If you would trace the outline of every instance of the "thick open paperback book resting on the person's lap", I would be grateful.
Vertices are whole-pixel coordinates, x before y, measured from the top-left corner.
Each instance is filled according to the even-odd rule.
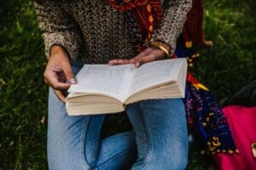
[[[84,65],[67,95],[68,115],[125,111],[144,99],[183,98],[186,59],[165,59],[134,65]]]

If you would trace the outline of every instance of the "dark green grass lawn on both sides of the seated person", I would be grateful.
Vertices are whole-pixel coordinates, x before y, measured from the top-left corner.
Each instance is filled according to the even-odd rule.
[[[192,70],[219,102],[255,80],[256,5],[254,0],[204,3],[206,37],[214,45],[200,49]],[[32,1],[1,1],[0,170],[47,169],[46,62]],[[211,159],[191,148],[188,169],[206,169]]]

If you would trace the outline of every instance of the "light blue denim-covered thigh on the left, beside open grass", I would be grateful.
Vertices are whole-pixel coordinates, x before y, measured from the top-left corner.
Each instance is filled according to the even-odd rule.
[[[76,74],[82,64],[73,63]],[[68,116],[65,104],[49,88],[47,152],[49,169],[80,170],[96,164],[104,116]]]

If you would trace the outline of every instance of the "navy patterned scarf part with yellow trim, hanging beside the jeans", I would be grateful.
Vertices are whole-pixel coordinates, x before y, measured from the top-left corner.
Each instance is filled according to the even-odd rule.
[[[172,55],[172,58],[177,57],[187,58],[190,66],[193,59],[198,57],[193,48],[186,48],[183,35],[178,38],[175,54]],[[184,105],[190,133],[193,134],[201,154],[238,151],[223,111],[209,90],[189,72]]]

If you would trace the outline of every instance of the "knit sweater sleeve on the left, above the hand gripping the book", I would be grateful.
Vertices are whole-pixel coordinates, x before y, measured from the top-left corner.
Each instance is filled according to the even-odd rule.
[[[43,31],[46,56],[49,57],[53,45],[60,45],[67,50],[71,59],[75,59],[79,55],[81,37],[78,26],[61,1],[38,0],[34,2],[34,7]]]

